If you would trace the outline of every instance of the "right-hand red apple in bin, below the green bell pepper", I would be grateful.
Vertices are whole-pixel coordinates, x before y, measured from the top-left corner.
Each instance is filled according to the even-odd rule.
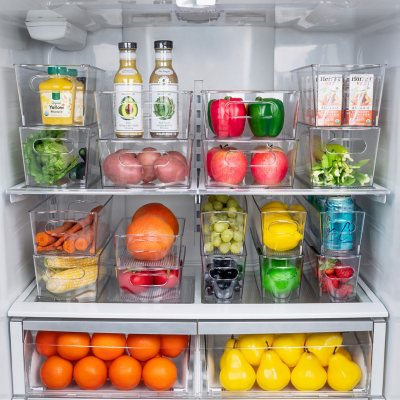
[[[289,161],[279,147],[257,147],[251,157],[251,174],[258,185],[277,185],[285,179]]]

